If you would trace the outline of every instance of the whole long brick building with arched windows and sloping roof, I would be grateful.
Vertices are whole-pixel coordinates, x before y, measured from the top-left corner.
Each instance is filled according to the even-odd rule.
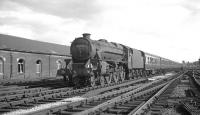
[[[55,77],[69,46],[0,34],[0,80]]]

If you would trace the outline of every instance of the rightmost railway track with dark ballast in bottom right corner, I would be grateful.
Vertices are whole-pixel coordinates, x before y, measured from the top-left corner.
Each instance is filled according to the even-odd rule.
[[[190,74],[190,72],[188,73]],[[154,102],[149,104],[144,113],[147,115],[178,114],[174,110],[179,109],[182,114],[199,115],[200,93],[197,91],[193,77],[192,75],[185,76],[185,78],[171,83],[163,93],[154,99]],[[176,90],[177,88],[179,88],[179,91]]]

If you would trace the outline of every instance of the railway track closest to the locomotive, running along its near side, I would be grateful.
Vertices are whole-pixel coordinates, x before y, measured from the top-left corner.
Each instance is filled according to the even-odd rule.
[[[2,96],[0,97],[0,113],[10,112],[18,109],[27,109],[36,105],[56,102],[65,98],[70,98],[74,96],[80,96],[87,93],[92,93],[97,95],[110,90],[116,90],[119,87],[128,87],[132,84],[139,84],[141,82],[146,82],[147,78],[142,78],[132,81],[124,81],[123,83],[113,83],[103,86],[87,87],[83,89],[73,90],[72,88],[59,88],[59,89],[49,89],[40,90],[34,88],[32,90],[37,91],[26,91],[14,95]],[[29,89],[31,90],[31,89]]]

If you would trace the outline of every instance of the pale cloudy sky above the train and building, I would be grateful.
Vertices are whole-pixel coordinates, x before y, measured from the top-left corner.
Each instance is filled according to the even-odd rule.
[[[0,0],[0,33],[70,45],[85,32],[174,61],[196,61],[200,0]]]

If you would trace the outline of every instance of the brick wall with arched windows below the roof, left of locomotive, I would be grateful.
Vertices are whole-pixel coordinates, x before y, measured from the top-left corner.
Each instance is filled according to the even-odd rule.
[[[13,52],[0,50],[0,58],[4,60],[3,75],[0,74],[0,79],[37,79],[45,77],[56,77],[58,69],[58,60],[61,66],[65,67],[64,59],[66,56],[36,54],[26,52]],[[69,58],[69,57],[68,57]],[[23,59],[25,62],[24,73],[18,72],[18,61]],[[41,61],[41,73],[37,73],[36,62]],[[61,67],[59,66],[59,67]]]

